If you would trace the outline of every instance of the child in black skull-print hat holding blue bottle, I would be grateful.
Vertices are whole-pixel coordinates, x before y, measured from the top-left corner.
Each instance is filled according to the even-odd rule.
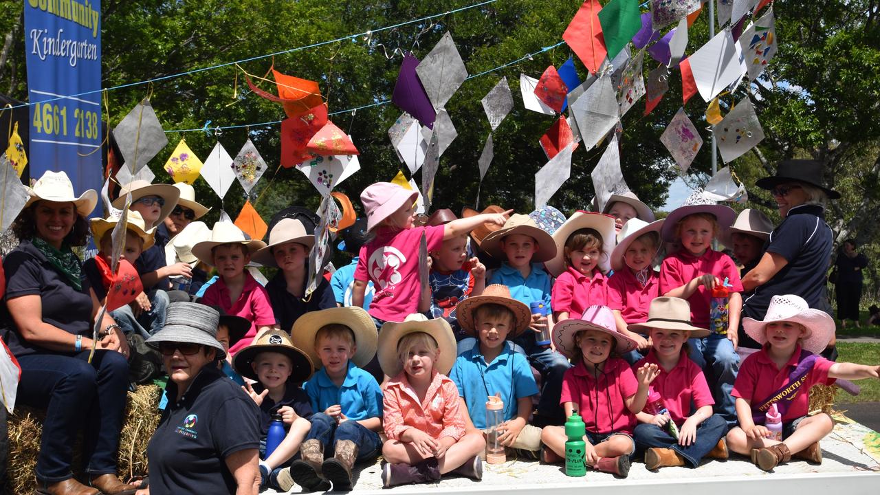
[[[242,389],[260,408],[260,489],[289,491],[293,480],[290,470],[283,468],[297,454],[311,427],[312,404],[298,384],[312,376],[312,359],[290,343],[287,332],[269,330],[238,351],[232,366],[242,376],[256,380],[253,386],[248,383]],[[281,415],[287,434],[278,447],[266,455],[269,425],[275,414]]]

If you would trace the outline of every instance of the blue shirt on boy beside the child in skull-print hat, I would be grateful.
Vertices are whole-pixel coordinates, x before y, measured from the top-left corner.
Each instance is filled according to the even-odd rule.
[[[370,417],[382,417],[382,389],[373,375],[348,361],[348,372],[341,387],[336,387],[322,367],[304,383],[305,393],[312,401],[312,410],[324,412],[339,404],[348,419],[360,421]]]

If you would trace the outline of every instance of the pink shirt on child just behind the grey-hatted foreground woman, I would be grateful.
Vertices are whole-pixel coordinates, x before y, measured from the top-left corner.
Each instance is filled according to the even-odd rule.
[[[222,307],[226,314],[241,316],[251,322],[251,329],[235,345],[229,348],[229,353],[234,355],[242,348],[251,344],[253,337],[257,336],[257,327],[275,325],[275,313],[272,312],[272,304],[269,303],[269,294],[266,288],[260,285],[253,276],[245,272],[245,288],[242,289],[238,300],[232,303],[229,297],[229,288],[226,287],[223,277],[217,279],[214,284],[205,291],[202,296],[202,304]]]

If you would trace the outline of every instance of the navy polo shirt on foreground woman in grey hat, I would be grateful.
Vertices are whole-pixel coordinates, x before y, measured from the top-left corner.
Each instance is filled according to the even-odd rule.
[[[216,366],[206,365],[175,402],[177,385],[168,382],[168,405],[147,447],[150,495],[235,493],[225,458],[260,448],[260,410]]]

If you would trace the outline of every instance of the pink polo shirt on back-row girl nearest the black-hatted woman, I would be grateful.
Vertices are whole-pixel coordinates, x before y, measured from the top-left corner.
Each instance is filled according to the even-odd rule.
[[[696,277],[711,274],[724,281],[728,278],[730,292],[743,292],[743,284],[739,280],[739,269],[730,256],[707,249],[701,256],[692,255],[687,249],[679,249],[669,255],[660,267],[660,295],[670,292],[676,287],[687,284]],[[709,328],[709,302],[712,292],[700,285],[687,298],[691,304],[691,322],[694,327]]]

